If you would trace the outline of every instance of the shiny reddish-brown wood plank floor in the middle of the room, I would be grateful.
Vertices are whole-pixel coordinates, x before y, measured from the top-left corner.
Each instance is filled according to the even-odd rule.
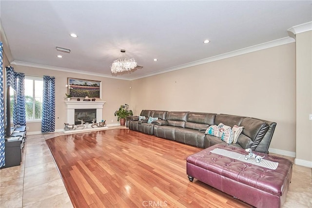
[[[76,208],[251,207],[198,180],[186,157],[200,148],[129,129],[46,140]]]

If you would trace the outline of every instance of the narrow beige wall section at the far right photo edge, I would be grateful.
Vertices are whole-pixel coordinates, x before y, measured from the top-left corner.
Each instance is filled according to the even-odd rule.
[[[296,34],[296,160],[312,167],[312,31]]]

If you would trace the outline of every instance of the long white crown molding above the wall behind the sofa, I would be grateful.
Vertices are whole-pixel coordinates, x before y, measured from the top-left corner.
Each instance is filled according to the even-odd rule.
[[[148,77],[148,76],[159,75],[159,74],[172,72],[172,71],[176,71],[176,70],[179,70],[179,69],[184,69],[184,68],[188,68],[188,67],[192,67],[192,66],[196,66],[196,65],[200,65],[200,64],[204,64],[204,63],[209,63],[209,62],[213,62],[213,61],[217,61],[217,60],[221,60],[221,59],[225,59],[225,58],[230,58],[230,57],[235,57],[235,56],[239,56],[239,55],[243,55],[243,54],[248,54],[248,53],[252,53],[252,52],[255,52],[255,51],[260,51],[260,50],[263,50],[263,49],[272,48],[272,47],[275,47],[275,46],[292,43],[294,41],[295,40],[293,38],[290,38],[290,37],[280,38],[280,39],[277,39],[277,40],[273,40],[273,41],[261,43],[261,44],[258,44],[258,45],[250,46],[250,47],[247,47],[247,48],[238,49],[236,51],[228,52],[228,53],[225,53],[225,54],[217,55],[217,56],[214,56],[214,57],[204,58],[204,59],[197,60],[197,61],[194,61],[194,62],[190,62],[190,63],[182,64],[182,65],[179,65],[179,66],[167,68],[167,69],[164,69],[164,70],[161,70],[161,71],[158,71],[158,72],[155,72],[155,73],[147,74],[147,75],[144,75],[144,76],[137,76],[137,77],[132,78],[131,80],[140,79],[140,78],[144,78],[144,77]]]

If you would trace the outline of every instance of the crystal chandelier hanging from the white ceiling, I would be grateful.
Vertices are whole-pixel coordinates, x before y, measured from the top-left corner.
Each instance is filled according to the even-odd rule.
[[[120,52],[124,54],[126,50],[121,49]],[[117,58],[110,65],[111,72],[117,74],[118,72],[131,71],[137,67],[137,61],[134,58]]]

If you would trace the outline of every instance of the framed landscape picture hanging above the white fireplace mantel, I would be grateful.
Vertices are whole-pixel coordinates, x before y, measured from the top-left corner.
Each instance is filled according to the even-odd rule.
[[[72,98],[101,99],[101,81],[68,78],[68,94]]]

